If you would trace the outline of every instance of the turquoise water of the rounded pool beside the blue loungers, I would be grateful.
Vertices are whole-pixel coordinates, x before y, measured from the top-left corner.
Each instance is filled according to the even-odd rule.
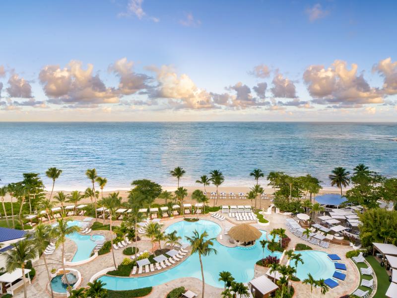
[[[297,277],[300,280],[307,278],[310,273],[315,279],[331,278],[335,272],[335,265],[327,257],[327,253],[317,250],[299,251],[302,254],[303,264],[298,263]],[[295,262],[291,262],[291,267],[295,267]]]

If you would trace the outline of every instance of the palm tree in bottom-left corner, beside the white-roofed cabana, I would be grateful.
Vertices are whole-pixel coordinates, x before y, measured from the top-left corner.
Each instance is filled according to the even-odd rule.
[[[5,269],[12,272],[17,268],[22,269],[23,292],[27,298],[26,282],[25,282],[25,262],[33,260],[37,256],[37,248],[31,240],[23,239],[10,244],[12,249],[3,253],[5,259]]]

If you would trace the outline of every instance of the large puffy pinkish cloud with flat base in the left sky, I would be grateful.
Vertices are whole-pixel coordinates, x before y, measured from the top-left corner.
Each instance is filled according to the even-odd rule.
[[[106,87],[99,75],[93,75],[92,64],[82,69],[79,61],[70,61],[61,69],[58,65],[45,66],[39,74],[49,102],[55,104],[78,103],[100,104],[118,103],[118,93],[114,88]]]

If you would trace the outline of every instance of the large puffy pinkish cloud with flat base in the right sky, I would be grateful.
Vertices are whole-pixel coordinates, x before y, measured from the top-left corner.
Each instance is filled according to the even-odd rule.
[[[309,94],[318,104],[355,105],[383,103],[382,94],[370,87],[363,74],[357,75],[357,64],[347,69],[347,64],[335,60],[328,69],[322,65],[312,65],[303,74]]]

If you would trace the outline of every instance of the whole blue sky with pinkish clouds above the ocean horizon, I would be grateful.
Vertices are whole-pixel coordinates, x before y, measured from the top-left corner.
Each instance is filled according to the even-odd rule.
[[[0,2],[0,121],[397,120],[396,1]]]

